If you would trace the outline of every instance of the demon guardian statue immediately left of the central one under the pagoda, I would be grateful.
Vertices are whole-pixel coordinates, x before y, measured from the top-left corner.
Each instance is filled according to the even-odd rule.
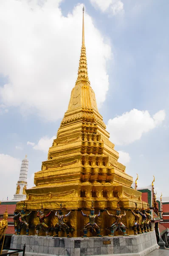
[[[62,204],[60,204],[60,209],[58,211],[56,211],[56,213],[55,213],[55,216],[58,218],[58,222],[56,223],[56,225],[54,227],[54,230],[56,233],[55,237],[58,237],[59,231],[61,231],[61,229],[66,232],[67,237],[70,237],[69,236],[70,227],[63,220],[63,218],[68,217],[70,215],[70,213],[71,213],[71,211],[68,212],[68,214],[63,214]]]

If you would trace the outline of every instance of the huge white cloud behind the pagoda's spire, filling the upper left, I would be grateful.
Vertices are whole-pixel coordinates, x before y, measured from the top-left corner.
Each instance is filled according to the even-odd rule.
[[[0,1],[0,87],[3,104],[20,107],[43,120],[62,118],[75,85],[82,41],[82,4],[64,17],[59,0]],[[91,40],[92,38],[92,40]],[[8,43],[6,43],[8,42]],[[85,12],[88,73],[98,105],[109,81],[106,64],[111,47]]]

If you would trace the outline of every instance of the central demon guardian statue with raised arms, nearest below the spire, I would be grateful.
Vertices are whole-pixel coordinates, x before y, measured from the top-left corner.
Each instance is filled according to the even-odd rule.
[[[82,212],[82,210],[81,210],[81,212]],[[82,212],[82,215],[84,217],[89,218],[89,222],[83,228],[84,236],[82,236],[82,237],[87,237],[87,232],[90,230],[90,228],[92,229],[92,232],[96,231],[97,236],[100,237],[101,236],[100,235],[100,228],[95,222],[95,218],[100,216],[100,210],[99,210],[99,214],[94,214],[93,201],[92,201],[92,208],[90,210],[90,214],[85,214],[85,213]]]

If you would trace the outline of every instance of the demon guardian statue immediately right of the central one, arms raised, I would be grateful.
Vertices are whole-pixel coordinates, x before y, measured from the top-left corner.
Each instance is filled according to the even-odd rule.
[[[114,236],[114,232],[116,230],[121,230],[123,232],[123,236],[128,236],[128,234],[126,234],[127,227],[121,222],[121,218],[126,215],[126,212],[124,211],[124,214],[120,214],[121,210],[119,207],[119,202],[117,204],[116,214],[110,214],[107,210],[106,212],[109,216],[115,217],[115,222],[111,225],[111,227],[107,227],[107,230],[110,230],[111,232],[109,236]]]

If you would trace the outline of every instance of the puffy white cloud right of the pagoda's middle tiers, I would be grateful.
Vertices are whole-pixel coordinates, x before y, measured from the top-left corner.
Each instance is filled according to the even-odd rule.
[[[109,119],[107,131],[115,145],[126,145],[139,140],[141,136],[160,125],[165,119],[165,111],[161,110],[152,117],[148,111],[132,109],[121,116]]]

